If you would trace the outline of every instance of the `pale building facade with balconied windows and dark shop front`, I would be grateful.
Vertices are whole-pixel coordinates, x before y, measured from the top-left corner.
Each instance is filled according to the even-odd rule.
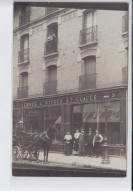
[[[125,155],[128,12],[15,7],[13,130],[58,128],[52,148],[63,151],[67,131],[105,133],[108,96],[110,154]]]

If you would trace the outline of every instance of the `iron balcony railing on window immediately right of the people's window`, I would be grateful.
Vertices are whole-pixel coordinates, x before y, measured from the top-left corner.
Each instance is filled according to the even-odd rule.
[[[97,26],[80,31],[80,44],[86,44],[97,40]]]

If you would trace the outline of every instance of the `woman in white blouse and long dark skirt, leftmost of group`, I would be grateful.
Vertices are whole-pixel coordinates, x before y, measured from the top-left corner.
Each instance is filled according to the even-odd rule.
[[[65,155],[71,155],[72,154],[72,136],[70,132],[67,132],[67,134],[64,137],[65,140]]]

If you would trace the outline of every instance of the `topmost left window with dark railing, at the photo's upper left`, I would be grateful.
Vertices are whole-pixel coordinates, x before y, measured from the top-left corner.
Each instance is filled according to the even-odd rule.
[[[22,6],[19,16],[19,25],[22,26],[30,22],[30,7]]]

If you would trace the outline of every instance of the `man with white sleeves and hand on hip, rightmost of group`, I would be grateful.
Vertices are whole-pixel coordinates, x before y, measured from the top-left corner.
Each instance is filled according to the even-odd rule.
[[[96,157],[99,157],[100,155],[102,141],[103,141],[103,136],[99,133],[99,130],[96,130],[93,138],[93,146],[95,149]]]

